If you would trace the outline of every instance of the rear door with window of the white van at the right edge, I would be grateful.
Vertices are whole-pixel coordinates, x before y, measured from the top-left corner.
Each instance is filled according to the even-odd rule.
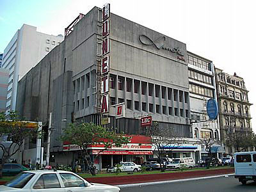
[[[253,175],[252,154],[236,155],[236,175]]]

